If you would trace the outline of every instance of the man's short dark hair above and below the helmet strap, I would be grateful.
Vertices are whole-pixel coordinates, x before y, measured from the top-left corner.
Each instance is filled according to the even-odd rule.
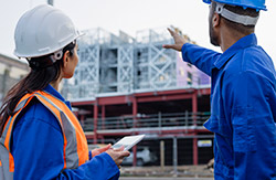
[[[225,7],[225,9],[230,10],[231,12],[234,12],[234,13],[241,14],[241,15],[248,15],[248,17],[255,18],[255,17],[258,17],[258,14],[259,14],[259,11],[256,11],[255,9],[252,9],[252,8],[244,9],[243,7],[233,7],[233,6],[227,6],[227,4],[225,4],[224,7]],[[232,30],[235,30],[240,33],[251,34],[255,30],[255,25],[244,25],[241,23],[230,21],[223,17],[222,17],[222,19],[224,20],[226,27],[229,27]]]

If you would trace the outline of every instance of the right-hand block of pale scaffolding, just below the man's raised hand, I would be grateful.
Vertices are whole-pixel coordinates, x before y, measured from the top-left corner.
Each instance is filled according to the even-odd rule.
[[[162,91],[177,86],[178,53],[162,44],[172,43],[166,29],[137,32],[135,46],[135,89]]]

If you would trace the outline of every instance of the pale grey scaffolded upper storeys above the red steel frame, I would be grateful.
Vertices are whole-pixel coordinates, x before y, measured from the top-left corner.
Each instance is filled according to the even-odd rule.
[[[70,100],[187,88],[206,82],[194,66],[182,61],[179,52],[162,47],[173,43],[166,28],[138,31],[136,39],[100,28],[84,33],[78,40],[75,75],[62,88]]]

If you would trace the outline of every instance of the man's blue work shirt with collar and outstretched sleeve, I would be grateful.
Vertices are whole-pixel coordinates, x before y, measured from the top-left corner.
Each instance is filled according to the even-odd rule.
[[[182,57],[212,80],[215,179],[276,179],[276,73],[255,34],[224,53],[187,43]]]

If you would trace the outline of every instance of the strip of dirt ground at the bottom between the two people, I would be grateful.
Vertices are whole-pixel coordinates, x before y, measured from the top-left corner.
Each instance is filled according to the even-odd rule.
[[[202,166],[179,166],[176,171],[173,167],[121,167],[121,177],[193,177],[213,178],[213,172]]]

